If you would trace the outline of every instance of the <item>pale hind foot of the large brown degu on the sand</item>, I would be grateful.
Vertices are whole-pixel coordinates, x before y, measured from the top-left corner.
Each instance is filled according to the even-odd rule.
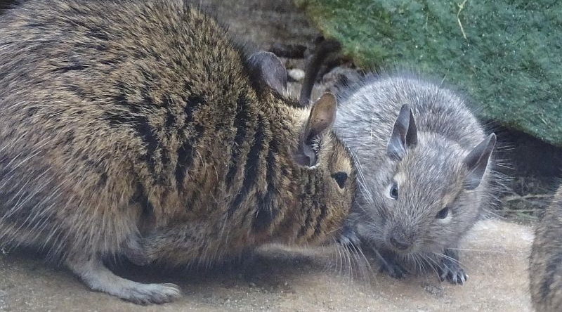
[[[74,256],[67,266],[92,290],[106,292],[136,304],[163,304],[181,295],[174,284],[143,284],[120,278],[112,273],[98,256]]]

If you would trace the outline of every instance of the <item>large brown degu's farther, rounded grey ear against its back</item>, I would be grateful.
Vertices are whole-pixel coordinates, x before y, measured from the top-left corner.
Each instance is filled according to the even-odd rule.
[[[248,58],[250,74],[261,87],[268,86],[281,95],[287,94],[287,70],[275,54],[258,51]]]

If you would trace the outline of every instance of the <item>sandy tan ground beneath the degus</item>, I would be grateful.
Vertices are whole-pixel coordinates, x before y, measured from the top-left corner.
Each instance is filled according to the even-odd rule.
[[[119,266],[119,275],[133,280],[180,285],[183,297],[162,306],[136,306],[92,292],[64,268],[9,253],[0,256],[0,311],[532,311],[531,242],[528,226],[478,223],[462,246],[469,273],[463,286],[440,283],[432,273],[405,280],[377,273],[364,282],[327,266],[325,257],[272,249],[244,270],[162,273]]]

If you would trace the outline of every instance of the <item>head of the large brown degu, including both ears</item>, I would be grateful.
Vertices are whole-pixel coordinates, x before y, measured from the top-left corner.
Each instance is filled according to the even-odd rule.
[[[325,93],[301,108],[287,98],[287,72],[273,53],[254,53],[249,67],[261,99],[283,102],[278,108],[292,116],[289,127],[294,141],[288,152],[294,181],[285,181],[279,190],[290,208],[285,210],[285,220],[269,230],[297,245],[328,242],[339,234],[355,197],[353,160],[332,131],[336,98]]]

